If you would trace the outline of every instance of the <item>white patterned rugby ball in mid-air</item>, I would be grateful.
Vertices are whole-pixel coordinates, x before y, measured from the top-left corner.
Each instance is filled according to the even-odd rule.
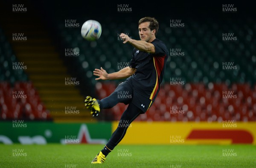
[[[88,41],[98,40],[101,32],[101,24],[96,20],[87,20],[81,28],[82,37]]]

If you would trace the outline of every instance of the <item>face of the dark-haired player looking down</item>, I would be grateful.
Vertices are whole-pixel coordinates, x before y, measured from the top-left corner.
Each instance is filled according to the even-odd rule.
[[[153,31],[150,30],[149,26],[150,22],[144,22],[140,23],[139,25],[139,34],[140,34],[140,40],[148,42],[151,40]]]

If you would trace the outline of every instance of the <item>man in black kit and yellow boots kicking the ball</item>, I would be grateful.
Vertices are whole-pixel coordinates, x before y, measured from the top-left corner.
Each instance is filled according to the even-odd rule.
[[[144,17],[140,19],[140,40],[133,40],[126,34],[120,34],[123,43],[130,43],[134,46],[129,67],[111,74],[108,74],[102,67],[93,71],[93,74],[98,77],[96,80],[127,79],[119,84],[110,96],[102,100],[87,96],[84,105],[90,109],[91,114],[98,116],[101,109],[112,108],[117,103],[128,104],[128,107],[123,112],[119,125],[108,143],[96,155],[92,163],[105,162],[108,154],[125,136],[131,122],[140,114],[144,114],[157,97],[169,54],[166,45],[156,38],[158,28],[159,25],[155,18]],[[119,91],[130,93],[131,99],[118,98]]]

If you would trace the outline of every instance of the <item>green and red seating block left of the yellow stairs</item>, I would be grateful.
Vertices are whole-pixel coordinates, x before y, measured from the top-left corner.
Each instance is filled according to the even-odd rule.
[[[26,72],[13,69],[19,61],[1,28],[0,62],[0,120],[52,120]]]

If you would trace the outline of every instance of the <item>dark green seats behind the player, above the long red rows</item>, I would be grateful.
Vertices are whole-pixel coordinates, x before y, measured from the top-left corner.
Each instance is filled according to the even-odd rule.
[[[77,20],[86,20],[78,18]],[[106,17],[105,20],[111,20]],[[127,18],[126,20],[131,20]],[[95,42],[83,40],[80,30],[76,28],[67,29],[64,22],[58,23],[58,34],[64,39],[63,45],[72,48],[79,48],[81,57],[77,57],[76,63],[81,67],[79,71],[93,71],[94,68],[104,67],[106,71],[118,71],[118,63],[127,63],[131,60],[132,47],[123,45],[118,39],[120,33],[116,24],[102,23],[102,36]],[[169,77],[183,77],[186,83],[255,83],[253,76],[253,65],[256,64],[255,46],[251,45],[251,33],[244,39],[242,34],[251,32],[251,28],[245,26],[242,29],[234,29],[239,40],[232,43],[222,41],[222,32],[226,28],[220,28],[216,23],[206,21],[203,25],[188,20],[185,28],[170,28],[167,20],[159,18],[161,23],[157,37],[166,43],[168,50],[180,48],[184,52],[184,57],[170,57],[166,67],[164,82],[169,82]],[[238,23],[233,23],[237,26]],[[248,23],[250,24],[250,23]],[[232,26],[231,26],[232,27]],[[134,39],[138,39],[136,24],[128,25],[127,28],[120,24],[119,29],[124,29]],[[217,33],[212,33],[217,31]],[[168,39],[169,37],[169,39]],[[105,43],[106,42],[106,43]],[[241,58],[241,54],[244,55]],[[253,60],[253,61],[252,61]],[[223,62],[231,62],[237,66],[238,71],[225,71],[222,69]],[[87,76],[92,84],[96,81],[92,73]],[[226,80],[226,81],[225,81]],[[120,81],[117,81],[117,83]]]

